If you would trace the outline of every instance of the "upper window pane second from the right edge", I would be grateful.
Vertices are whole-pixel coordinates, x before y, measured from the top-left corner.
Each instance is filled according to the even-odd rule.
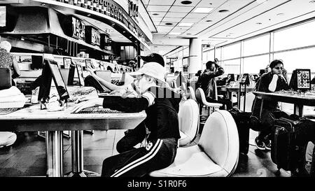
[[[244,41],[244,57],[269,52],[269,34]]]

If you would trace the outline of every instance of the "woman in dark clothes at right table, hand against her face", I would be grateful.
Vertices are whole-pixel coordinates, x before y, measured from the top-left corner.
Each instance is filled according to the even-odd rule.
[[[288,82],[283,76],[283,62],[276,59],[269,64],[269,67],[271,71],[260,76],[257,91],[276,92],[279,90],[288,90]],[[261,104],[262,100],[255,97],[253,101],[252,115],[260,118],[260,126],[262,127],[260,134],[255,138],[255,145],[260,150],[271,150],[272,119],[270,117],[270,113],[279,111],[278,101],[264,100],[260,114]]]

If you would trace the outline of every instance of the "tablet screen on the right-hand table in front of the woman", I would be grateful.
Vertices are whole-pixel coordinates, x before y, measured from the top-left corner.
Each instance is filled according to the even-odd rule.
[[[311,70],[295,69],[292,73],[289,86],[293,90],[311,90]]]

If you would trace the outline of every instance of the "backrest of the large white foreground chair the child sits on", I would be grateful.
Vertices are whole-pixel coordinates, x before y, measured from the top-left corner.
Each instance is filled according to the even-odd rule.
[[[235,171],[239,160],[239,134],[228,111],[215,111],[209,116],[198,146],[229,174]]]

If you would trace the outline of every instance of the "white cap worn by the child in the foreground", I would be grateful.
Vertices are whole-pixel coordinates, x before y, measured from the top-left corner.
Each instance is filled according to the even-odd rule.
[[[161,66],[161,64],[159,64],[158,62],[147,62],[138,71],[134,71],[129,74],[130,76],[139,76],[142,74],[146,74],[147,76],[151,76],[161,83],[166,83],[165,73],[165,67]]]

